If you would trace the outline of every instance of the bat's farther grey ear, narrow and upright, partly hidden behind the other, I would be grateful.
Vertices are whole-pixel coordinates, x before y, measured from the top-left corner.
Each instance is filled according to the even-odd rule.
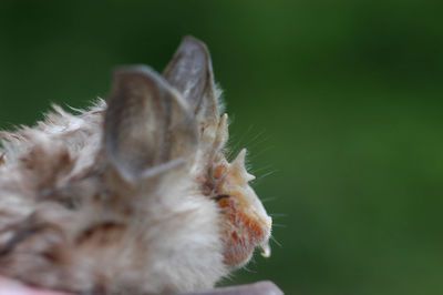
[[[209,51],[202,41],[185,37],[163,77],[187,101],[198,123],[217,125],[219,108],[213,65]]]

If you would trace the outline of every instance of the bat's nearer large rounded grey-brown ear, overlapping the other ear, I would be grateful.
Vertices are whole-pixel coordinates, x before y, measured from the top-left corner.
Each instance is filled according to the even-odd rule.
[[[126,181],[156,175],[189,161],[197,123],[179,93],[147,67],[114,72],[104,120],[104,150]]]

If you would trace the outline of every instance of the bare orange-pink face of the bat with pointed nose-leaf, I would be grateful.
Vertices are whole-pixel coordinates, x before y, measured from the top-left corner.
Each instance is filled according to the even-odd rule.
[[[246,150],[228,163],[225,157],[214,163],[204,179],[203,189],[222,210],[225,263],[230,267],[241,266],[260,246],[268,257],[268,240],[272,220],[266,213],[248,182],[255,177],[245,169]]]

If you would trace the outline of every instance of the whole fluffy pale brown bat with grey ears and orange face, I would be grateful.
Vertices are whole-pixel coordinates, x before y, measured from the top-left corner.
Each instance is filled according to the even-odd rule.
[[[209,289],[269,254],[271,220],[228,163],[209,53],[114,73],[107,104],[1,134],[0,273],[80,294]]]

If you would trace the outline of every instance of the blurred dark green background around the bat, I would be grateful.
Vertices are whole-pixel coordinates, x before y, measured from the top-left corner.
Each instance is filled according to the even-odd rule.
[[[443,294],[443,18],[430,3],[2,1],[0,126],[106,98],[112,69],[212,51],[276,226],[223,284]],[[357,2],[357,1],[356,1]]]

